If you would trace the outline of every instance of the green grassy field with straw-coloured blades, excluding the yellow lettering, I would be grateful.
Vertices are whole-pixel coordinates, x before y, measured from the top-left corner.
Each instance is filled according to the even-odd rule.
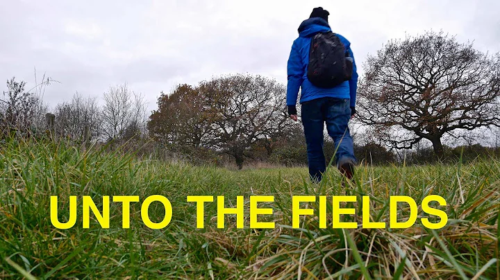
[[[500,161],[456,166],[360,167],[356,181],[342,188],[337,170],[322,184],[307,180],[306,168],[241,171],[140,160],[133,155],[64,143],[10,139],[0,144],[0,279],[499,279]],[[292,195],[370,195],[372,220],[389,218],[390,195],[408,195],[420,205],[441,195],[448,223],[408,229],[326,229],[304,216],[292,229]],[[110,204],[110,229],[92,218],[83,229],[81,200],[71,229],[51,225],[50,195],[58,195],[59,219],[69,217],[69,195],[91,195],[101,209],[103,195],[164,195],[172,222],[149,229],[140,203],[131,204],[131,228],[122,229],[121,204]],[[274,229],[244,229],[235,217],[217,229],[217,203],[205,207],[205,228],[196,227],[196,207],[187,195],[274,195]],[[356,215],[342,220],[361,225]],[[408,208],[398,210],[408,216]],[[317,210],[317,204],[308,204]],[[151,204],[151,220],[165,214]],[[419,208],[419,218],[425,216]],[[92,214],[91,214],[91,217]],[[403,218],[402,218],[403,219]],[[328,215],[331,225],[331,215]]]

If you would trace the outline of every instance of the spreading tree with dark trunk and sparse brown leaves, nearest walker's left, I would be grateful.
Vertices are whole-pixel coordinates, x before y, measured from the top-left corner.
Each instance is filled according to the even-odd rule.
[[[285,87],[261,76],[235,75],[202,82],[199,90],[210,107],[213,146],[235,158],[242,168],[244,152],[260,139],[274,139],[288,125]]]

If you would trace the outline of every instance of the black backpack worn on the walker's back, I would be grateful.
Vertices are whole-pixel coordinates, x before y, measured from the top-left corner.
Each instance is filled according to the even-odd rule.
[[[353,60],[335,33],[318,33],[311,38],[308,80],[316,87],[329,89],[350,80]]]

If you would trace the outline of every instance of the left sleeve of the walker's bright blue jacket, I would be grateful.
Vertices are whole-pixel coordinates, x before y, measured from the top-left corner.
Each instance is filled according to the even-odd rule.
[[[297,41],[295,40],[292,44],[292,51],[290,51],[290,58],[288,58],[287,105],[289,106],[297,104],[297,96],[299,96],[299,89],[302,85],[303,74],[306,68],[302,63]]]

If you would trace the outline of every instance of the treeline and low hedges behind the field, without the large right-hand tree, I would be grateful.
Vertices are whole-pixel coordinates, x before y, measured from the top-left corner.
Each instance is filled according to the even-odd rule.
[[[45,80],[40,85],[47,85]],[[47,135],[49,111],[35,91],[24,82],[7,83],[0,103],[1,135]],[[249,94],[249,92],[251,94]],[[235,75],[214,78],[199,86],[178,85],[171,94],[161,94],[158,110],[147,118],[140,94],[126,85],[110,87],[104,104],[75,94],[52,112],[53,132],[58,139],[81,143],[85,129],[94,145],[108,145],[136,152],[141,157],[188,161],[195,165],[236,166],[243,163],[266,166],[306,166],[306,142],[300,123],[285,114],[283,85],[260,76]],[[387,165],[433,164],[499,157],[500,148],[478,143],[451,148],[444,157],[432,147],[389,150],[370,131],[353,134],[358,162]],[[363,139],[363,143],[360,143]],[[376,143],[378,141],[378,143]],[[328,136],[324,152],[329,161],[335,146]]]

